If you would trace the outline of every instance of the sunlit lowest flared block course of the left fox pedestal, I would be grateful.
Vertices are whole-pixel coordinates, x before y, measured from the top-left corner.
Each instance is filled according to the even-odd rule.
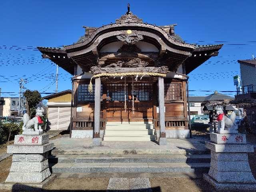
[[[49,168],[42,172],[10,172],[5,182],[40,183],[50,175]]]

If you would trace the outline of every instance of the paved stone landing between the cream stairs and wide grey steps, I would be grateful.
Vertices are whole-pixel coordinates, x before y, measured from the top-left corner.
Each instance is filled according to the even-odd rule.
[[[102,141],[102,146],[92,146],[92,138],[74,139],[69,135],[51,140],[52,154],[201,154],[207,150],[202,137],[191,139],[168,138],[166,146],[152,141]]]

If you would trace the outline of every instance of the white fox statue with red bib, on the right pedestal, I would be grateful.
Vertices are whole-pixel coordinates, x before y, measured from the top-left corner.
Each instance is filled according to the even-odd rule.
[[[235,123],[236,114],[234,112],[231,113],[230,118],[224,115],[223,107],[216,107],[216,113],[218,115],[218,130],[237,130],[238,126]]]

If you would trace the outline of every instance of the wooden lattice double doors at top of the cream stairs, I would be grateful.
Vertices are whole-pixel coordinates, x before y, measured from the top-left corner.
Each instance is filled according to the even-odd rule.
[[[107,84],[106,119],[117,122],[153,119],[152,83],[134,82],[134,112],[132,111],[132,83],[126,83],[126,97],[124,87],[124,83]]]

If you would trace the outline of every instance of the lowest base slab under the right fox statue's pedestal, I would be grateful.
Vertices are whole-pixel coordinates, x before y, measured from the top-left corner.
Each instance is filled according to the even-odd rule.
[[[222,183],[217,182],[211,178],[208,174],[203,174],[204,180],[210,183],[217,192],[248,192],[256,191],[256,183]]]

